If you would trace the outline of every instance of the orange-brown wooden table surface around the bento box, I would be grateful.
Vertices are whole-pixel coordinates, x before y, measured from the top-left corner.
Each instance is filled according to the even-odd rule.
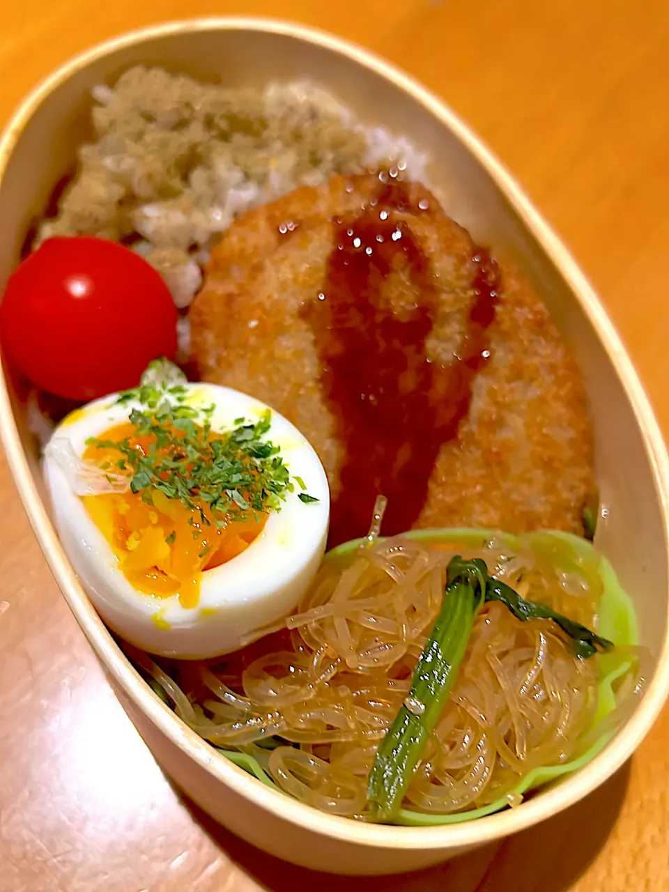
[[[227,12],[333,30],[444,96],[570,246],[669,432],[665,0],[22,0],[3,12],[0,120],[87,45],[153,21]],[[178,797],[57,591],[4,459],[0,534],[0,892],[340,888],[335,877],[260,854]],[[346,886],[667,888],[668,736],[669,708],[612,780],[539,828],[430,871]]]

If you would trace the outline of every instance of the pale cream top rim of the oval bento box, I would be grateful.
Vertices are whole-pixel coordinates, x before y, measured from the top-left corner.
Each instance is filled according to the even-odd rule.
[[[0,137],[0,184],[14,147],[33,114],[49,95],[53,94],[79,70],[106,55],[114,54],[128,47],[139,46],[163,37],[217,30],[256,31],[263,34],[292,37],[297,41],[303,41],[343,56],[352,64],[372,71],[409,95],[416,103],[429,111],[436,120],[439,120],[444,128],[450,130],[461,145],[467,148],[467,151],[500,188],[517,218],[523,222],[524,227],[532,233],[546,252],[553,266],[558,269],[573,291],[582,312],[598,333],[599,340],[623,384],[624,392],[632,406],[647,448],[648,461],[653,470],[657,495],[662,507],[666,542],[669,460],[664,440],[632,363],[624,351],[614,326],[600,306],[591,285],[569,252],[566,251],[558,236],[552,232],[541,215],[534,210],[514,178],[492,155],[487,146],[459,119],[458,115],[451,111],[436,95],[421,86],[416,79],[367,49],[342,37],[335,37],[323,30],[297,22],[252,16],[220,16],[170,21],[112,37],[64,62],[37,84],[37,87],[33,88],[13,112],[4,128],[2,137]],[[141,62],[141,59],[138,58],[137,62]],[[89,643],[95,649],[95,653],[111,674],[112,680],[175,747],[185,752],[216,780],[233,789],[238,795],[252,800],[280,820],[291,822],[298,827],[306,826],[310,831],[315,831],[324,837],[336,838],[358,847],[428,848],[437,851],[482,845],[523,830],[553,814],[558,814],[597,788],[632,755],[634,749],[638,747],[657,719],[657,715],[665,703],[667,690],[669,690],[669,631],[665,632],[665,640],[658,654],[655,677],[648,685],[648,690],[641,698],[639,706],[622,731],[590,765],[581,772],[576,772],[570,778],[563,780],[558,786],[546,790],[540,797],[533,798],[520,807],[492,814],[474,822],[441,827],[417,828],[366,824],[318,812],[308,805],[303,805],[285,797],[276,790],[269,789],[259,780],[244,772],[243,769],[227,761],[225,757],[217,755],[209,744],[198,737],[194,731],[191,731],[168,706],[165,706],[160,698],[155,696],[123,655],[79,585],[38,495],[12,414],[4,370],[0,372],[0,436],[9,467],[40,548],[72,613],[77,618]]]

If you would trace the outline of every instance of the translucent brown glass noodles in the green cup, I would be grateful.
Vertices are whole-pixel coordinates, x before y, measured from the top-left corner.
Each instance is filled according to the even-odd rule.
[[[203,738],[254,756],[302,802],[365,819],[376,747],[407,698],[456,553],[483,558],[525,599],[596,625],[595,552],[576,560],[568,546],[561,553],[557,540],[536,537],[515,550],[502,538],[472,549],[396,537],[326,559],[284,629],[226,662],[168,673],[133,656]],[[450,814],[506,795],[515,805],[511,791],[525,774],[574,756],[598,680],[599,660],[575,657],[556,624],[485,605],[405,807]]]

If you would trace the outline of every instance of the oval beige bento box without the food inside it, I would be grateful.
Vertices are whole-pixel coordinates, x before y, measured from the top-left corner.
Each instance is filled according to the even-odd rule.
[[[434,191],[478,244],[516,261],[546,301],[581,368],[591,406],[601,495],[596,544],[632,595],[652,654],[643,695],[591,764],[514,809],[439,827],[362,824],[322,814],[255,780],[200,739],[128,663],[82,590],[54,533],[37,444],[10,376],[0,424],[12,474],[45,558],[120,702],[178,787],[216,820],[273,855],[321,871],[408,871],[527,828],[586,796],[632,755],[669,686],[665,446],[630,360],[568,252],[516,183],[434,95],[376,56],[299,25],[261,19],[183,21],[96,46],[57,70],[21,104],[0,143],[0,282],[89,136],[96,84],[143,62],[233,86],[313,78],[361,120],[407,133],[432,158]]]

